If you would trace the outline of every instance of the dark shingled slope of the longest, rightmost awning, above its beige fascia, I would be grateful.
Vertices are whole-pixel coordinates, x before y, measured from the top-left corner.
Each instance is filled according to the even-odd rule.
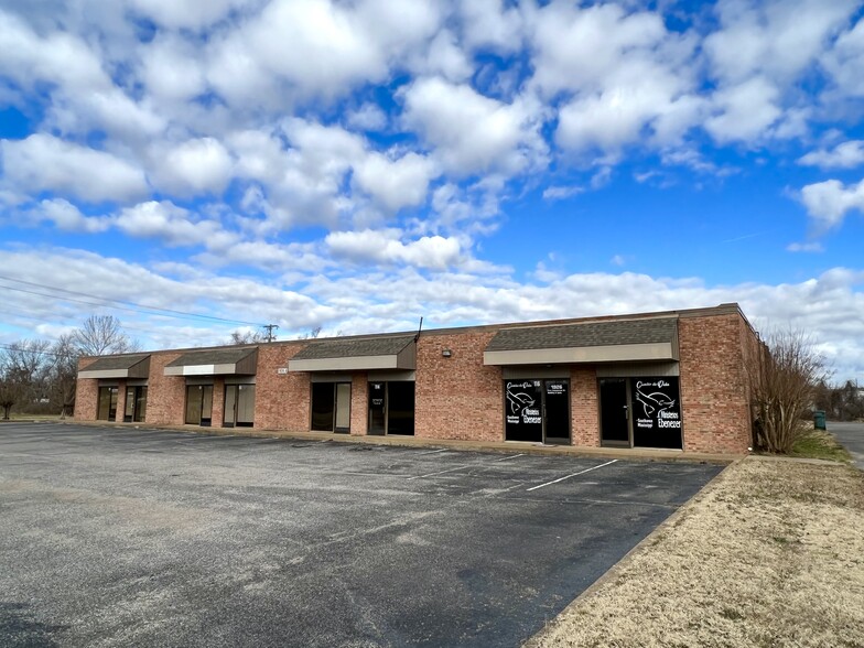
[[[505,328],[492,338],[487,352],[529,350],[538,348],[577,348],[619,344],[672,342],[677,320],[609,320],[558,326]]]

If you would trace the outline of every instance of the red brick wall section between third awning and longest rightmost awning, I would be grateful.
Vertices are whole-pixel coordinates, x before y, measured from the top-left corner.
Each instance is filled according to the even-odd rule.
[[[494,331],[424,335],[417,349],[415,432],[426,439],[504,440],[499,367],[483,364]],[[453,356],[444,358],[449,348]]]

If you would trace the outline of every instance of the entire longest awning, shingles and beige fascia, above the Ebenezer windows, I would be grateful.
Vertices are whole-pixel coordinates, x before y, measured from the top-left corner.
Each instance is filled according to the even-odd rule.
[[[678,318],[608,320],[499,331],[484,365],[557,365],[678,359]]]

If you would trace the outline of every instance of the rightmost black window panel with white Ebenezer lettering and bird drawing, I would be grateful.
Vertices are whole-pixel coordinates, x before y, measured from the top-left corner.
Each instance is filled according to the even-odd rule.
[[[678,377],[631,378],[633,444],[681,447],[681,396]]]

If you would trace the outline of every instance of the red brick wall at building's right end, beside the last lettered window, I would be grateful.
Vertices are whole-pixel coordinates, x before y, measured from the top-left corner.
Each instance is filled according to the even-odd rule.
[[[749,406],[737,314],[679,320],[684,450],[744,453]]]

